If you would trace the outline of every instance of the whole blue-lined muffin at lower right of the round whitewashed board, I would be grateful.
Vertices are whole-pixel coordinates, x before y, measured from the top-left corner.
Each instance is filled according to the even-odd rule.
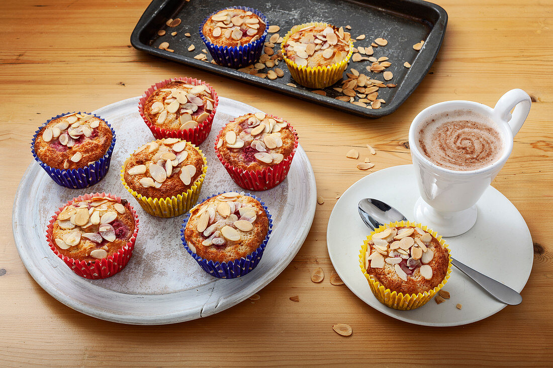
[[[190,209],[182,224],[182,242],[209,274],[246,275],[257,266],[272,228],[267,207],[251,194],[226,192]]]

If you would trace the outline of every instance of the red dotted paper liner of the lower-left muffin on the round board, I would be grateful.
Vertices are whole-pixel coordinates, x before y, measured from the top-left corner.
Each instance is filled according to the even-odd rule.
[[[109,255],[106,258],[96,260],[95,262],[80,261],[77,259],[70,258],[66,255],[62,255],[58,251],[58,248],[56,248],[56,246],[54,245],[54,240],[52,239],[54,223],[58,219],[58,215],[60,214],[62,209],[64,209],[66,206],[69,206],[73,202],[86,201],[87,199],[90,199],[92,197],[108,197],[108,198],[115,199],[117,202],[121,203],[121,197],[112,196],[112,194],[109,194],[109,193],[91,193],[91,194],[84,194],[82,196],[73,198],[71,199],[71,201],[67,202],[64,206],[60,207],[58,211],[56,211],[56,213],[52,216],[50,222],[48,223],[48,226],[46,227],[46,240],[50,245],[50,249],[54,251],[54,253],[62,261],[64,261],[65,264],[69,266],[69,268],[73,272],[75,272],[75,274],[84,278],[90,278],[91,280],[97,280],[99,278],[106,278],[117,274],[117,272],[124,269],[129,259],[131,259],[131,255],[133,254],[133,249],[134,249],[134,242],[137,239],[137,233],[138,233],[138,215],[136,211],[134,211],[134,208],[131,206],[131,204],[127,203],[125,207],[127,207],[129,211],[131,211],[134,217],[134,233],[131,236],[131,239],[129,239],[129,241],[127,242],[127,244],[124,245],[121,249],[119,249],[117,253]]]

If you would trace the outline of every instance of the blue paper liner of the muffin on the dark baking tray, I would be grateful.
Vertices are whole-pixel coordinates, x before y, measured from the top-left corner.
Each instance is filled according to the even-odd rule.
[[[218,46],[218,45],[212,44],[204,36],[204,31],[203,31],[204,24],[207,22],[207,19],[211,17],[211,15],[216,14],[221,10],[225,10],[225,9],[242,9],[242,10],[250,11],[255,15],[257,15],[259,18],[263,20],[263,22],[265,22],[265,31],[263,32],[263,35],[258,40],[255,40],[243,46],[227,47],[227,46]],[[263,15],[263,13],[253,8],[229,7],[225,9],[220,9],[220,10],[217,10],[216,12],[211,13],[204,19],[204,22],[202,22],[200,25],[200,37],[204,41],[204,44],[207,46],[207,50],[210,52],[211,56],[213,57],[213,60],[215,60],[215,62],[217,62],[218,65],[229,66],[231,68],[236,69],[236,68],[248,66],[250,64],[255,64],[255,62],[259,60],[259,56],[261,56],[263,52],[265,37],[267,36],[267,30],[269,29],[267,18],[265,18],[265,15]]]

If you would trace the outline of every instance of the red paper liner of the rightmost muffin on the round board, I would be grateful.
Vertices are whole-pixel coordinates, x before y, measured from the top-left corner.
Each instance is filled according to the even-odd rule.
[[[267,116],[279,119],[274,115],[267,114]],[[234,120],[232,120],[230,123],[232,123],[233,121]],[[225,127],[223,127],[217,135],[217,138],[215,139],[215,154],[217,155],[219,161],[221,161],[221,164],[225,166],[228,175],[230,175],[232,180],[234,180],[234,182],[236,182],[240,187],[249,191],[265,191],[279,185],[279,183],[281,183],[286,178],[286,175],[288,175],[290,165],[292,164],[292,159],[294,158],[294,155],[296,153],[296,148],[298,148],[298,133],[296,133],[294,127],[292,127],[290,123],[286,122],[286,120],[283,120],[283,122],[288,124],[288,128],[290,128],[290,131],[292,132],[292,134],[294,134],[294,149],[292,150],[290,155],[282,160],[279,164],[266,167],[263,170],[238,169],[237,167],[234,167],[227,161],[225,161],[225,159],[217,149],[217,142],[219,141],[221,133],[223,132],[223,129],[225,129]]]

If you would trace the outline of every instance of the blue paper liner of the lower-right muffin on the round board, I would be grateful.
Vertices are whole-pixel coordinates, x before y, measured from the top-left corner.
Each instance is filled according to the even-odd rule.
[[[210,197],[202,199],[198,203],[205,202],[207,201],[207,199],[218,196],[222,193],[225,193],[225,192],[213,194]],[[222,262],[222,263],[203,259],[202,257],[194,253],[189,248],[184,238],[184,230],[186,229],[186,224],[188,223],[188,219],[190,218],[190,212],[186,214],[186,217],[182,221],[182,228],[180,230],[182,245],[184,245],[184,248],[186,249],[186,251],[192,257],[194,257],[194,259],[196,260],[196,262],[198,262],[200,267],[202,267],[202,269],[206,271],[208,274],[210,274],[211,276],[215,276],[218,278],[236,278],[236,277],[244,276],[248,274],[248,272],[252,271],[255,268],[255,266],[259,264],[259,261],[261,261],[261,257],[263,256],[263,251],[265,250],[265,246],[267,246],[267,242],[269,241],[269,236],[271,235],[271,232],[273,230],[273,220],[271,219],[271,215],[269,213],[269,210],[265,206],[265,203],[262,202],[258,197],[255,197],[253,194],[250,194],[250,193],[244,193],[244,196],[249,196],[256,199],[265,210],[265,213],[267,213],[267,218],[269,219],[269,228],[267,230],[267,236],[265,236],[265,239],[259,245],[259,247],[255,249],[251,254],[248,254],[246,257],[243,257],[241,259],[236,259],[234,261]]]

